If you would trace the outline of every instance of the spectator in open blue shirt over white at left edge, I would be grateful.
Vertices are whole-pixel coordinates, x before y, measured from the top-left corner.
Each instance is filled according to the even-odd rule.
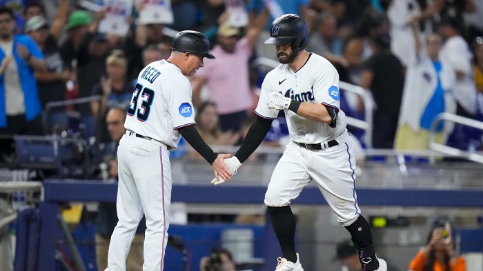
[[[41,104],[35,71],[45,71],[43,54],[28,35],[15,33],[14,14],[0,7],[0,134],[40,134]]]

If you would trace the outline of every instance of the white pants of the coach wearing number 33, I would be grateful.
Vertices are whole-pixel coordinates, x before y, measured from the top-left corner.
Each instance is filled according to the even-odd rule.
[[[163,270],[168,243],[171,165],[166,145],[124,134],[117,149],[117,217],[108,252],[108,271],[125,271],[137,224],[146,216],[144,271]]]

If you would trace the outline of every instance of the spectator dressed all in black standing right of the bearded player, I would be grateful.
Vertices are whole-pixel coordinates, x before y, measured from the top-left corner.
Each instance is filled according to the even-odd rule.
[[[391,52],[390,39],[388,34],[373,39],[375,53],[364,63],[360,80],[360,86],[371,90],[375,100],[373,148],[393,148],[401,108],[404,70]],[[359,112],[362,108],[359,106]]]

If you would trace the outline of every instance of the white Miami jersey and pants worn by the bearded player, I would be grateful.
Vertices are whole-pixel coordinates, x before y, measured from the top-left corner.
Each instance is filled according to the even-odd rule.
[[[293,72],[280,65],[269,72],[262,84],[262,93],[255,112],[275,119],[279,110],[268,108],[268,94],[281,92],[285,97],[306,103],[322,103],[339,110],[339,74],[334,66],[311,53],[305,65]],[[346,130],[346,116],[339,110],[337,126],[301,117],[285,110],[290,141],[273,171],[265,194],[267,206],[286,206],[299,197],[311,181],[317,183],[324,199],[335,212],[337,221],[351,225],[359,216],[355,193],[355,157],[353,142]],[[332,139],[337,145],[325,150],[308,150],[299,143],[322,143]]]

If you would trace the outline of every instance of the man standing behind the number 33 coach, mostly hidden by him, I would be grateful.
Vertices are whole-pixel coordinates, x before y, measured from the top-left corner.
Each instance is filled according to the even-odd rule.
[[[108,169],[108,178],[117,180],[117,145],[121,141],[121,137],[126,132],[124,128],[124,120],[126,119],[126,110],[120,108],[111,108],[106,116],[107,130],[110,136],[110,143],[106,144],[103,149],[103,163],[106,163]],[[110,237],[117,224],[116,203],[99,203],[99,212],[96,219],[96,259],[97,269],[106,270],[108,267],[108,248]],[[126,267],[128,270],[143,270],[143,243],[144,230],[146,230],[146,220],[141,220],[137,227],[137,231],[129,250]]]

